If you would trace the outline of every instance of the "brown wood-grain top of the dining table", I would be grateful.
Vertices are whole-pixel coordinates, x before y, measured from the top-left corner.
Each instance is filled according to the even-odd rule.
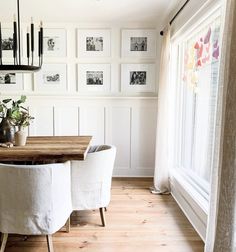
[[[67,160],[84,160],[91,139],[91,136],[28,137],[25,146],[0,147],[0,162],[65,162]]]

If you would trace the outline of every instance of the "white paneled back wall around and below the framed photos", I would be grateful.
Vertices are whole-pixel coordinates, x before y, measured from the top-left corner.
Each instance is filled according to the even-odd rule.
[[[2,24],[2,27],[11,27]],[[25,27],[23,31],[25,32]],[[153,93],[121,92],[120,65],[122,63],[159,64],[159,36],[157,57],[154,59],[122,58],[121,30],[123,28],[155,28],[154,24],[75,24],[51,23],[45,28],[62,28],[67,33],[67,57],[45,58],[45,63],[67,65],[67,91],[59,93],[36,91],[34,75],[24,74],[24,90],[3,91],[2,97],[27,95],[31,114],[35,117],[29,135],[92,135],[92,144],[114,144],[117,159],[114,176],[153,176],[155,130],[157,116],[157,81]],[[111,30],[111,57],[77,57],[77,28],[107,28]],[[111,64],[111,90],[106,93],[78,91],[78,63]],[[158,71],[156,71],[158,79]],[[1,87],[0,87],[1,88]]]

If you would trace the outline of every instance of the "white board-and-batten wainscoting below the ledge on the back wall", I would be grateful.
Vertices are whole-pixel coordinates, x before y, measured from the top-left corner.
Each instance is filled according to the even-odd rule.
[[[114,176],[153,175],[157,98],[28,96],[28,106],[29,135],[92,135],[117,147]]]

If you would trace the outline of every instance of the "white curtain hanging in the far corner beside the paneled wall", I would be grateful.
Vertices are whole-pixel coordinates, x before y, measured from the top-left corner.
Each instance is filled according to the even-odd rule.
[[[170,67],[170,26],[164,30],[160,60],[158,89],[158,115],[156,137],[156,160],[153,193],[169,193],[168,173],[168,126],[169,126],[169,67]]]

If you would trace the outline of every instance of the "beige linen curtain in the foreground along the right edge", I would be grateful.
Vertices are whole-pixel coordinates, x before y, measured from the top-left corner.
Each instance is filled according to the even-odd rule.
[[[216,148],[205,252],[236,251],[236,2],[224,2]]]

